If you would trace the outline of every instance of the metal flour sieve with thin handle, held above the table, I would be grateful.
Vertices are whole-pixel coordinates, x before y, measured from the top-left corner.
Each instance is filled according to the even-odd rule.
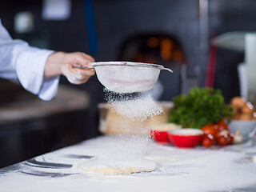
[[[144,92],[153,88],[161,70],[168,70],[157,64],[142,62],[93,62],[91,66],[77,69],[94,68],[98,81],[106,89],[117,93]]]

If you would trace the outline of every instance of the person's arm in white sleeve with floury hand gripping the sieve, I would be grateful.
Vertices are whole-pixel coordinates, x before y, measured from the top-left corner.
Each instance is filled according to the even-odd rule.
[[[87,82],[94,70],[78,70],[73,66],[89,66],[94,62],[88,54],[43,50],[13,39],[0,19],[0,78],[19,82],[32,94],[49,101],[58,91],[62,74],[73,84]]]

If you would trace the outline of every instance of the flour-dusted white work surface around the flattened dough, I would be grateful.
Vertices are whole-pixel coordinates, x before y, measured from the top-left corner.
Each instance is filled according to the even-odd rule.
[[[178,149],[150,142],[145,158],[157,169],[129,175],[91,174],[71,168],[93,156],[118,154],[102,136],[0,170],[1,191],[256,191],[256,138],[237,146]],[[136,146],[136,143],[131,144]]]

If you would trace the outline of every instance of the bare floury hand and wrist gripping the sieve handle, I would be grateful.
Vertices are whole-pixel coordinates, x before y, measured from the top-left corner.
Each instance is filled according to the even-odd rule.
[[[95,71],[94,69],[74,69],[73,66],[90,66],[91,62],[94,62],[94,58],[81,52],[70,54],[55,52],[47,58],[44,77],[63,74],[71,83],[82,84],[87,82]]]

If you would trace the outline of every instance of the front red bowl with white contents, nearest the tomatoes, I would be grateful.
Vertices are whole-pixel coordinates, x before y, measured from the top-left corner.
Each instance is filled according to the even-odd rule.
[[[198,129],[180,129],[168,131],[168,138],[174,146],[192,148],[197,146],[203,137],[203,131]]]

